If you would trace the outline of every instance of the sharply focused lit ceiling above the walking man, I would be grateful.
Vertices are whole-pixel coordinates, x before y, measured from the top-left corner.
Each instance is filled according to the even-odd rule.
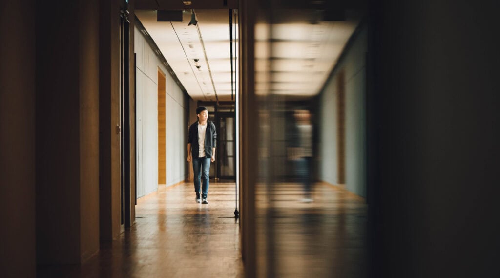
[[[229,13],[227,9],[195,10],[198,24],[188,26],[190,10],[182,22],[157,22],[156,11],[135,15],[154,40],[187,93],[195,100],[231,100]],[[237,76],[237,25],[233,21],[233,80]],[[196,61],[197,60],[197,61]],[[233,88],[234,89],[234,88]]]

